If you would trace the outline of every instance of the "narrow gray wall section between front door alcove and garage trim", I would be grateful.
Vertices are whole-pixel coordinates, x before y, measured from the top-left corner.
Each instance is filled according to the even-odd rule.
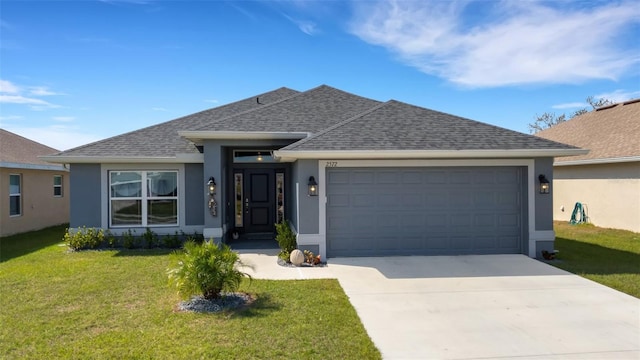
[[[317,234],[319,232],[320,196],[309,196],[307,194],[309,176],[313,176],[318,181],[318,160],[298,160],[294,166],[293,182],[298,184],[298,214],[296,229],[299,234]]]

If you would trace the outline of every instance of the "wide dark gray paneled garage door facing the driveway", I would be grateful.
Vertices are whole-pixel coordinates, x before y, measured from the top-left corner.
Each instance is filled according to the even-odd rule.
[[[523,253],[524,167],[329,168],[327,256]]]

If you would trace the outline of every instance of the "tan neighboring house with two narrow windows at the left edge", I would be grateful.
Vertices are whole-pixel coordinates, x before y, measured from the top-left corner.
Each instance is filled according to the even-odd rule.
[[[69,171],[58,150],[0,129],[0,236],[69,222]]]

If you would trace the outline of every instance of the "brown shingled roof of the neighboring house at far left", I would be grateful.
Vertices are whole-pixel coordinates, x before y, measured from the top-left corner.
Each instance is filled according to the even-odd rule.
[[[0,129],[0,162],[51,165],[38,156],[51,155],[58,150],[29,140],[10,131]]]

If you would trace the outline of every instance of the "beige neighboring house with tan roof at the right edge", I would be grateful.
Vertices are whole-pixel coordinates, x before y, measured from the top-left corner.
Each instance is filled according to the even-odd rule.
[[[555,159],[555,220],[569,221],[580,202],[594,225],[640,232],[640,99],[601,107],[536,135],[590,150]]]

